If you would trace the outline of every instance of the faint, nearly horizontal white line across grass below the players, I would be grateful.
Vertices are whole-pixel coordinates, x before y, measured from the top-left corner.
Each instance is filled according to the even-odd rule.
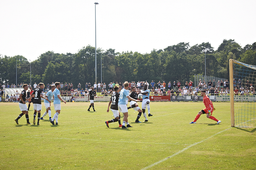
[[[26,138],[39,138],[39,139],[49,139],[43,137],[30,137],[27,136]],[[182,143],[155,143],[155,142],[134,142],[134,141],[110,141],[110,140],[97,140],[97,139],[72,139],[72,138],[51,138],[51,139],[65,139],[65,140],[84,140],[84,141],[100,141],[100,142],[127,142],[127,143],[147,143],[147,144],[167,144],[167,145],[189,145],[189,144],[182,144]]]

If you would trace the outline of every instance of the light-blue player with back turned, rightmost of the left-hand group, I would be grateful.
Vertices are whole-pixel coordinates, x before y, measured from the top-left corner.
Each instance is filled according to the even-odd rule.
[[[60,82],[55,82],[55,87],[56,89],[53,91],[53,96],[54,96],[54,109],[56,111],[56,113],[53,116],[53,119],[51,119],[51,124],[54,124],[54,120],[56,119],[56,125],[58,125],[58,115],[60,114],[60,110],[61,110],[61,106],[60,106],[60,101],[64,102],[66,104],[66,101],[64,101],[61,97],[60,97]]]

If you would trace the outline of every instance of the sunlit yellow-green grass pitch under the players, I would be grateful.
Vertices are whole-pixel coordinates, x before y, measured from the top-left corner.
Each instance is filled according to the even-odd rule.
[[[106,127],[114,118],[107,102],[96,102],[96,112],[89,105],[61,103],[59,125],[37,126],[26,125],[25,116],[16,125],[19,104],[0,102],[0,169],[256,169],[256,128],[231,128],[228,102],[213,103],[220,125],[206,115],[189,124],[202,102],[151,102],[148,122],[135,123],[138,112],[129,109],[128,129]]]

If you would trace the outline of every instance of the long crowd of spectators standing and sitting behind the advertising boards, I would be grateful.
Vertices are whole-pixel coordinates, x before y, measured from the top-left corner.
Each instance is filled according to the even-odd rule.
[[[156,96],[166,96],[166,95],[198,95],[200,94],[201,90],[206,90],[207,95],[228,95],[230,93],[229,88],[229,81],[228,80],[219,80],[216,82],[214,79],[213,81],[209,80],[209,82],[205,82],[205,80],[201,79],[198,82],[198,86],[193,88],[193,81],[186,81],[184,86],[182,86],[181,82],[174,81],[171,83],[169,81],[167,84],[165,81],[157,82],[155,83],[153,80],[150,82],[150,84],[147,81],[131,81],[129,82],[129,90],[131,90],[132,87],[136,87],[137,91],[142,91],[144,88],[144,85],[148,85],[148,89],[150,89],[150,95],[156,95]],[[234,94],[235,95],[248,95],[248,94],[256,94],[255,89],[252,85],[252,83],[249,82],[249,80],[246,80],[245,83],[243,83],[244,86],[242,86],[242,81],[239,79],[237,82],[235,79],[233,80],[234,83]],[[24,83],[20,83],[17,86],[15,84],[9,85],[8,83],[5,85],[0,84],[0,88],[22,88]],[[54,85],[54,82],[52,84],[46,84],[44,93],[46,94],[47,91],[51,90],[51,85]],[[124,88],[124,83],[121,82],[109,82],[107,85],[106,83],[102,82],[94,82],[93,85],[91,83],[86,83],[85,88],[81,88],[81,83],[75,87],[72,83],[61,83],[60,84],[60,94],[61,96],[88,96],[89,91],[91,90],[91,87],[94,87],[94,90],[97,93],[100,93],[100,95],[112,95],[113,89],[115,86],[119,86],[121,88]],[[31,84],[28,84],[28,89],[32,87],[34,90],[39,87],[39,84],[34,83],[33,86]],[[3,96],[3,90],[1,90],[1,96]],[[1,97],[2,98],[2,97]],[[2,100],[2,99],[1,99]],[[17,102],[19,100],[19,94],[16,95],[7,95],[5,98],[5,101],[9,102]]]

